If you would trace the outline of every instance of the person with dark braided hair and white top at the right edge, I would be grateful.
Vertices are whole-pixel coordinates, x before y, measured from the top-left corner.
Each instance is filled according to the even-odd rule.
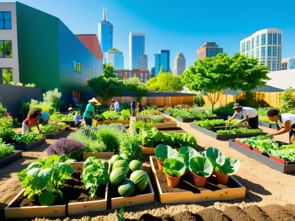
[[[278,110],[271,109],[267,112],[267,118],[270,121],[276,121],[277,131],[269,133],[267,136],[276,136],[283,133],[289,132],[289,141],[291,142],[291,137],[294,136],[295,131],[295,114],[282,113],[280,114]]]

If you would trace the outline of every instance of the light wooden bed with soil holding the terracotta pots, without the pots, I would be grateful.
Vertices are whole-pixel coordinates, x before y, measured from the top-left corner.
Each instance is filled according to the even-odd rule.
[[[246,188],[232,176],[227,186],[218,184],[216,177],[211,176],[207,178],[206,186],[199,188],[194,185],[193,177],[188,173],[181,177],[177,188],[171,188],[167,185],[163,171],[158,169],[155,156],[150,156],[150,164],[161,203],[196,203],[245,198]]]

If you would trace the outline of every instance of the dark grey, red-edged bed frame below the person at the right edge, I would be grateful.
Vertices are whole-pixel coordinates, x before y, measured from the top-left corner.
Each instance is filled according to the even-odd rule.
[[[269,156],[268,154],[262,154],[261,151],[235,140],[229,140],[229,147],[281,173],[286,174],[295,172],[295,162],[293,161],[284,161],[274,156]]]

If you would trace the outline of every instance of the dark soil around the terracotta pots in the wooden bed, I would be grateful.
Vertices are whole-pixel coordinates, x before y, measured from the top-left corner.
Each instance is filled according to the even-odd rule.
[[[187,172],[185,175],[181,176],[179,180],[179,184],[177,188],[168,187],[166,175],[162,170],[158,168],[158,162],[156,159],[153,159],[153,164],[155,166],[156,174],[159,180],[160,187],[163,193],[177,193],[177,192],[193,192],[193,193],[201,193],[201,191],[206,190],[220,190],[220,189],[228,189],[228,188],[237,188],[239,185],[235,183],[232,179],[228,180],[227,186],[219,184],[217,182],[216,177],[208,177],[207,183],[204,188],[199,188],[194,185],[193,176],[191,173]]]

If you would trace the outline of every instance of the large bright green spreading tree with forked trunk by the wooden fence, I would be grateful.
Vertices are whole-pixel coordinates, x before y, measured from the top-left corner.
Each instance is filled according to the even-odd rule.
[[[235,53],[230,57],[227,53],[214,57],[205,57],[190,65],[182,74],[183,82],[189,90],[206,91],[212,104],[227,88],[231,90],[252,91],[266,84],[269,67],[263,63],[258,65],[257,58],[247,58]]]

